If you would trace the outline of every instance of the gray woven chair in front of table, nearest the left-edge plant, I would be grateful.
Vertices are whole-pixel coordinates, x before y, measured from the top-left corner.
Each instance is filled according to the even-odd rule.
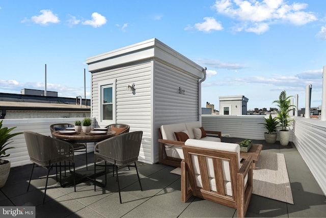
[[[47,181],[49,173],[53,166],[57,167],[57,163],[60,163],[60,184],[61,183],[61,161],[68,160],[69,168],[70,162],[73,167],[73,184],[74,191],[76,192],[76,183],[75,183],[75,164],[74,164],[74,152],[72,145],[68,142],[53,139],[51,137],[31,132],[24,131],[24,137],[26,141],[27,150],[29,152],[30,160],[33,162],[33,168],[30,176],[29,185],[27,191],[29,191],[31,179],[34,171],[34,167],[43,167],[47,169],[45,190],[43,197],[43,204],[46,196]],[[64,166],[66,167],[66,166]]]

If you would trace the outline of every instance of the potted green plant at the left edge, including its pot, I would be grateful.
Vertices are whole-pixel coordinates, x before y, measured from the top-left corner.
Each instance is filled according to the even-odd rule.
[[[10,161],[4,160],[3,158],[9,157],[10,154],[7,154],[6,151],[14,147],[7,147],[7,145],[12,142],[12,140],[10,140],[12,137],[22,134],[22,132],[10,134],[16,127],[10,129],[7,127],[2,128],[2,122],[3,120],[0,122],[0,187],[6,184],[10,172]]]

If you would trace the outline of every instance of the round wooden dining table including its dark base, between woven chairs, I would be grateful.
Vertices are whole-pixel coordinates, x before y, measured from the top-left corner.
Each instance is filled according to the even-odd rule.
[[[105,139],[114,137],[116,135],[116,131],[113,130],[108,130],[106,132],[103,131],[93,131],[95,133],[91,132],[76,132],[76,131],[67,131],[67,130],[56,130],[52,133],[53,137],[60,139],[60,140],[65,140],[69,143],[96,143],[96,142],[101,142]],[[96,133],[99,132],[99,133]],[[87,173],[87,174],[86,174]],[[94,181],[94,172],[86,172],[84,174],[81,173],[75,173],[75,176],[78,177],[76,179],[76,184],[83,182],[85,180],[91,180],[95,182],[96,184],[100,186],[104,186],[104,184]],[[102,172],[96,172],[96,176],[103,174],[104,171]],[[72,185],[73,181],[68,181],[65,183],[62,183],[62,187],[66,187],[68,185]]]

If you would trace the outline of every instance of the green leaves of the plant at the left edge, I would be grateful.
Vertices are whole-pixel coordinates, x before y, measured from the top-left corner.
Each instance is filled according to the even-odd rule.
[[[9,132],[11,132],[16,127],[12,127],[10,129],[8,129],[7,127],[2,128],[2,122],[3,120],[0,122],[0,165],[4,163],[4,160],[2,158],[8,157],[10,155],[10,154],[6,154],[6,151],[8,149],[14,148],[14,147],[6,147],[8,144],[12,143],[12,140],[10,139],[16,135],[22,134],[22,132],[16,132],[10,134]]]

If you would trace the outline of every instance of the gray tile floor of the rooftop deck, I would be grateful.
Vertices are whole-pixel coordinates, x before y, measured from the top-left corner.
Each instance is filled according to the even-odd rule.
[[[224,138],[225,142],[241,139]],[[294,205],[252,195],[247,217],[326,217],[326,198],[302,157],[291,144],[263,144],[263,150],[285,155]],[[83,155],[76,156],[76,165],[85,164]],[[89,161],[93,154],[89,153]],[[89,170],[93,169],[92,163]],[[42,204],[46,170],[34,170],[31,188],[26,192],[32,165],[12,168],[6,185],[0,189],[1,206],[36,206],[36,217],[236,217],[236,210],[207,200],[192,197],[181,202],[180,176],[170,173],[174,167],[138,162],[143,192],[134,168],[121,170],[122,204],[119,202],[116,177],[108,174],[105,188],[90,181],[73,187],[61,187],[51,172],[45,204]],[[78,171],[82,171],[79,169]],[[39,178],[38,178],[39,177]],[[103,179],[99,177],[99,179]]]

